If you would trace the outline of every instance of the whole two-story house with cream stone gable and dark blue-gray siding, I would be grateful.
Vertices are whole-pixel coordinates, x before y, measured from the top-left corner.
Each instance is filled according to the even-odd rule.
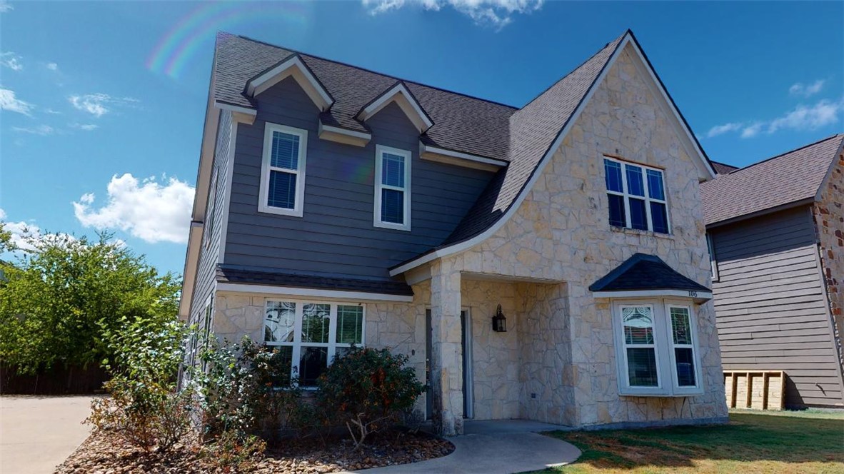
[[[444,434],[723,422],[714,176],[630,32],[521,109],[220,34],[180,315],[405,353]]]

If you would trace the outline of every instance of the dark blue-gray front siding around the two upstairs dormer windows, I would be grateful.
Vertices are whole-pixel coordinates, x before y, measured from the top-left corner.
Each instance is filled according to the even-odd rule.
[[[419,132],[398,105],[366,122],[365,148],[319,139],[318,112],[288,78],[259,96],[255,123],[238,128],[225,265],[386,279],[388,267],[445,240],[492,176],[419,159]],[[301,218],[257,211],[267,121],[308,131]],[[376,144],[413,154],[410,232],[372,225]]]

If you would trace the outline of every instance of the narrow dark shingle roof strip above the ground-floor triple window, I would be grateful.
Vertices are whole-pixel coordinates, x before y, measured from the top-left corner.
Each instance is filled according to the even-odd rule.
[[[314,277],[282,272],[257,272],[230,267],[217,267],[217,281],[222,283],[282,285],[295,288],[326,288],[403,296],[413,296],[414,294],[413,289],[403,282]]]

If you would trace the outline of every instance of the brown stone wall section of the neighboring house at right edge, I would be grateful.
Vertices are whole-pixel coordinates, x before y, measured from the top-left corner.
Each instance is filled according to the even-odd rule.
[[[832,164],[829,182],[820,202],[812,207],[814,227],[820,242],[820,263],[830,299],[839,362],[844,364],[844,154]]]

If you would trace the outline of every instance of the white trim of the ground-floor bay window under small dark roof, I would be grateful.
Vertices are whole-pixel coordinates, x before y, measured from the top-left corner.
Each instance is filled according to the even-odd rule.
[[[621,308],[626,306],[650,306],[653,310],[653,341],[656,347],[657,386],[630,386],[627,372],[627,350]],[[677,368],[674,358],[674,337],[671,328],[670,307],[688,308],[692,337],[692,353],[695,360],[695,386],[680,387],[677,383]],[[703,394],[701,377],[700,339],[697,336],[697,317],[694,304],[679,299],[614,299],[610,304],[615,335],[615,361],[620,396],[694,396]],[[641,345],[636,345],[641,347]],[[668,361],[665,364],[664,361]]]

